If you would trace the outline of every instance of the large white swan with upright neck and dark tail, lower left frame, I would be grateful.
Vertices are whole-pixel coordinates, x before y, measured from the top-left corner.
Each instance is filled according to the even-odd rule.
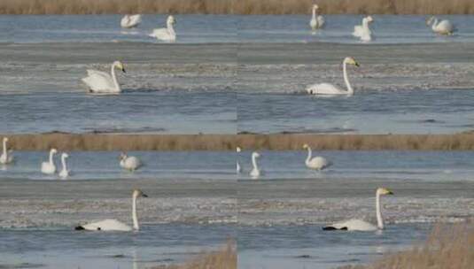
[[[136,231],[140,230],[138,225],[138,218],[136,217],[136,198],[137,197],[148,197],[140,189],[134,189],[132,194],[132,219],[133,219],[133,228],[129,227],[127,224],[120,222],[117,219],[105,219],[97,222],[91,222],[85,225],[75,227],[75,230],[88,230],[88,231],[120,231],[120,232],[130,232],[133,229]]]

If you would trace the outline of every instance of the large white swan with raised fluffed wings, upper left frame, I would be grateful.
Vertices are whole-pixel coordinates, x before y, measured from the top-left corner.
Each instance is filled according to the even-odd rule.
[[[115,61],[112,64],[111,74],[89,69],[88,76],[82,81],[89,87],[91,93],[120,93],[121,88],[115,76],[115,68],[119,68],[125,73],[123,64],[120,61]]]

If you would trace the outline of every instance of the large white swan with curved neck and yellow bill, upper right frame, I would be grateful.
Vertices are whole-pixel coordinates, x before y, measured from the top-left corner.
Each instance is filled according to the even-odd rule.
[[[357,63],[352,57],[346,57],[342,63],[344,81],[346,82],[347,90],[338,88],[338,86],[335,86],[332,84],[322,83],[322,84],[314,84],[314,85],[308,86],[307,93],[310,95],[316,95],[316,96],[319,96],[319,95],[321,96],[341,96],[341,95],[353,96],[354,89],[352,88],[351,83],[349,82],[349,79],[347,77],[346,65],[355,65],[359,67],[359,63]]]

